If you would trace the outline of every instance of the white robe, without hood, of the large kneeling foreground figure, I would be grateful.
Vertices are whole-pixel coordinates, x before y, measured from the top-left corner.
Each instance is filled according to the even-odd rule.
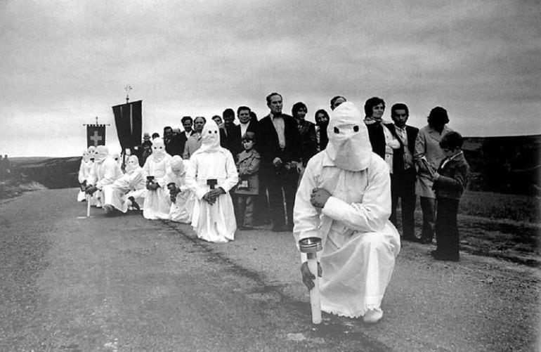
[[[400,251],[400,236],[389,221],[389,169],[377,155],[369,159],[367,169],[347,171],[334,166],[325,151],[318,153],[306,166],[294,205],[297,243],[322,239],[322,311],[350,318],[380,308]],[[316,187],[332,195],[322,209],[310,202]]]

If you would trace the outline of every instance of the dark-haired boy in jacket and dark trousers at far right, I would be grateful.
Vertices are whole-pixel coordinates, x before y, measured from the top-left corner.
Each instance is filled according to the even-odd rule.
[[[436,193],[436,250],[431,254],[438,261],[459,260],[457,227],[458,203],[468,181],[469,165],[462,152],[462,136],[455,131],[446,133],[440,141],[445,154],[434,173]]]

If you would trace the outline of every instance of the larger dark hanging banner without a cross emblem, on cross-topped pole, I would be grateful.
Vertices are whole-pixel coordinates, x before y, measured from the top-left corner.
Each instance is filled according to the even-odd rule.
[[[122,150],[141,145],[141,130],[143,128],[142,117],[143,100],[132,103],[116,105],[112,107],[117,125],[117,135]]]

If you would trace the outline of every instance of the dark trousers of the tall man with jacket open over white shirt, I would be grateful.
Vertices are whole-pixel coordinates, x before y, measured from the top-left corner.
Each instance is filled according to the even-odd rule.
[[[268,170],[266,173],[266,188],[273,228],[282,228],[285,226],[285,216],[287,216],[287,226],[292,228],[293,204],[295,202],[296,184],[299,175],[293,170],[282,169],[278,173],[274,169],[271,170]]]

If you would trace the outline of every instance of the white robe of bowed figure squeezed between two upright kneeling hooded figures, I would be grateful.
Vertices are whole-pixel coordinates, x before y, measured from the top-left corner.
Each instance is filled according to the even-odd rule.
[[[184,160],[183,162],[187,167],[189,160]],[[192,221],[195,197],[185,184],[185,176],[185,172],[182,174],[175,174],[171,169],[169,169],[165,175],[166,185],[172,182],[181,189],[176,195],[175,202],[171,202],[171,207],[169,208],[169,220],[177,223],[190,223]],[[169,191],[168,194],[170,195]]]

